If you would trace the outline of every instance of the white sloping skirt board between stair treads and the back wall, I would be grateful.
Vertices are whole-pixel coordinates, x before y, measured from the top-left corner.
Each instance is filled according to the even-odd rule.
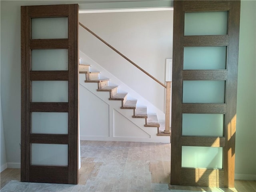
[[[92,60],[89,56],[87,56],[80,50],[79,50],[79,57],[82,58],[82,64],[92,65],[93,70],[101,72],[100,73],[101,78],[109,78],[111,85],[118,85],[119,90],[128,92],[128,98],[137,99],[138,100],[137,106],[147,106],[148,113],[156,113],[159,120],[165,119],[165,114],[162,110],[154,106],[146,98],[142,97],[140,94],[138,94],[132,88],[127,86],[120,79],[116,78],[116,76],[111,74],[108,70],[100,66],[100,64]]]

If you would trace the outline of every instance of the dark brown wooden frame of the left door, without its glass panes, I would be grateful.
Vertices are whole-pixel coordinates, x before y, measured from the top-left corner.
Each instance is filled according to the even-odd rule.
[[[63,16],[67,39],[31,38],[31,18]],[[67,71],[31,70],[32,49],[56,48],[68,49]],[[68,80],[68,102],[32,102],[32,80]],[[31,112],[68,112],[68,134],[31,134]],[[68,144],[68,166],[31,165],[31,143]],[[78,183],[78,4],[21,6],[21,181]]]

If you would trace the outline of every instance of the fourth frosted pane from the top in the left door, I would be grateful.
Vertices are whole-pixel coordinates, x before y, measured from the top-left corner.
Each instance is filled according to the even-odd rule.
[[[68,113],[32,112],[31,132],[39,134],[68,134]]]

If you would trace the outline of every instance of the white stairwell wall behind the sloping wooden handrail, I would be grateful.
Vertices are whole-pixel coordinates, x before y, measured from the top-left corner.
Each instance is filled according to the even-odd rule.
[[[172,58],[173,11],[80,14],[79,21],[165,84],[166,59]],[[165,89],[79,27],[79,48],[164,112]]]

